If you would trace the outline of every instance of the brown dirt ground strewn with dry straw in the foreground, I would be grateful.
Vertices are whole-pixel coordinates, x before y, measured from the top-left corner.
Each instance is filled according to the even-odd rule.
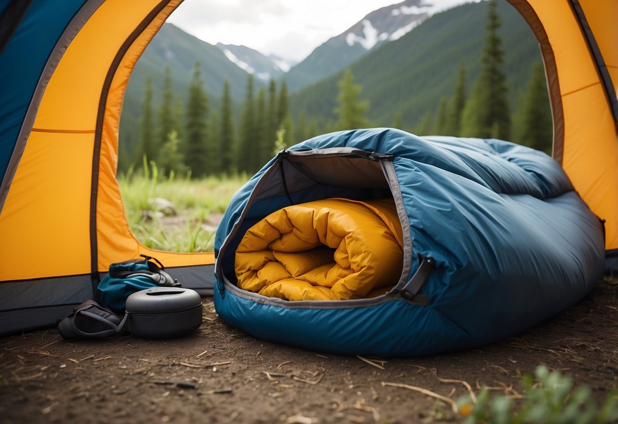
[[[421,358],[359,358],[255,339],[223,323],[212,299],[187,337],[67,342],[55,328],[0,339],[2,423],[457,422],[450,399],[481,385],[520,391],[540,363],[593,389],[618,386],[618,281],[525,333]],[[368,360],[367,360],[368,359]],[[442,380],[441,380],[442,379]]]

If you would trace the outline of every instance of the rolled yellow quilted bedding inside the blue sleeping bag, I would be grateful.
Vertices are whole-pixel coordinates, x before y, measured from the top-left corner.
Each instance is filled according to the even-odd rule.
[[[392,199],[287,206],[245,233],[235,255],[238,286],[287,300],[375,297],[399,280],[402,240]]]

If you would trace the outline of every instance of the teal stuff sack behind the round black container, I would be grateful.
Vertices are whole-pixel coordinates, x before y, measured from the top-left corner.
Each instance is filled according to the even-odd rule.
[[[101,303],[112,310],[124,311],[127,297],[135,292],[155,286],[180,287],[180,283],[164,271],[161,262],[145,255],[142,257],[109,265],[109,274],[97,287]]]

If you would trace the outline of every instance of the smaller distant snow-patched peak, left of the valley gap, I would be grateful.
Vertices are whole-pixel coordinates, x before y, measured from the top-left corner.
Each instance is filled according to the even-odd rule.
[[[221,49],[227,59],[263,81],[280,77],[294,65],[294,63],[281,59],[281,57],[274,55],[266,56],[247,46],[226,45],[222,43],[217,43],[216,46]]]

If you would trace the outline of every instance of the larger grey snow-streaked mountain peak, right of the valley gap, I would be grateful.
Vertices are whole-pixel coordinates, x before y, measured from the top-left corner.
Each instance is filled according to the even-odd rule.
[[[434,7],[425,0],[405,0],[371,12],[292,67],[286,74],[290,91],[299,90],[344,69],[387,40],[397,40],[433,12]]]

